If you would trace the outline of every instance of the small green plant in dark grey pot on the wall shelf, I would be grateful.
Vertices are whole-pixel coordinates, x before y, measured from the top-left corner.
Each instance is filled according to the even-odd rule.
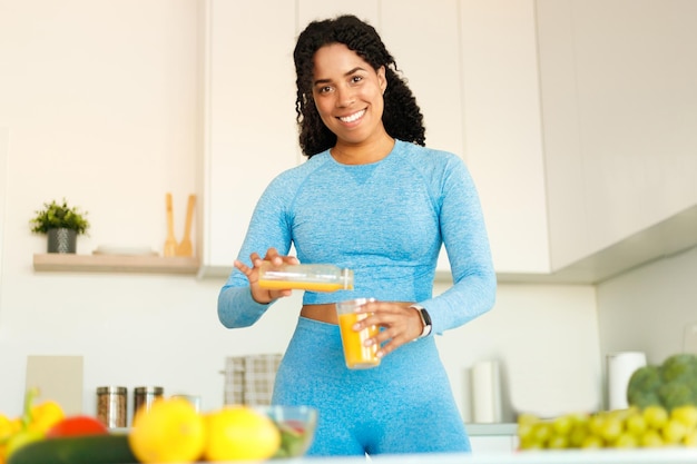
[[[77,236],[89,229],[87,213],[69,207],[63,198],[62,204],[45,203],[43,209],[36,214],[30,221],[31,231],[48,236],[48,253],[76,253]]]

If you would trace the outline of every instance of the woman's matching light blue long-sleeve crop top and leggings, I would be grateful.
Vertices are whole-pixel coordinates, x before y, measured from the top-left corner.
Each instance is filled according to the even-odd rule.
[[[303,304],[356,297],[415,302],[432,334],[493,306],[495,275],[474,184],[457,156],[395,140],[377,162],[342,165],[326,150],[277,176],[262,195],[238,258],[295,246],[301,263],[354,270],[354,290],[305,292]],[[432,296],[441,245],[453,286]],[[226,327],[254,324],[271,305],[254,302],[235,269],[218,297]],[[380,366],[347,369],[338,327],[298,318],[274,386],[276,404],[320,411],[310,454],[465,452],[463,421],[432,336],[405,344]]]

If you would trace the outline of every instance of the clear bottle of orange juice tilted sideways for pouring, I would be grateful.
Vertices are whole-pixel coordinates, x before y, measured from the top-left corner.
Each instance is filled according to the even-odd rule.
[[[352,290],[353,270],[332,264],[274,266],[266,261],[259,268],[259,287],[310,292]]]

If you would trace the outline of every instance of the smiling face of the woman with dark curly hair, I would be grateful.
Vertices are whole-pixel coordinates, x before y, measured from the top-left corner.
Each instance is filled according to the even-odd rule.
[[[338,145],[363,145],[383,138],[385,69],[373,69],[343,43],[320,48],[314,56],[313,97],[322,121]]]

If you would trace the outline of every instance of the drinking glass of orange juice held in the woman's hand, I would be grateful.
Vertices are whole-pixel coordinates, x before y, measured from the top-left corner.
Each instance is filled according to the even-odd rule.
[[[369,326],[363,330],[355,332],[353,325],[366,318],[371,313],[356,313],[355,309],[375,298],[356,298],[336,304],[336,315],[338,316],[338,328],[344,346],[344,358],[346,367],[350,369],[367,369],[380,364],[377,357],[377,345],[363,346],[363,342],[377,335],[377,326]]]

